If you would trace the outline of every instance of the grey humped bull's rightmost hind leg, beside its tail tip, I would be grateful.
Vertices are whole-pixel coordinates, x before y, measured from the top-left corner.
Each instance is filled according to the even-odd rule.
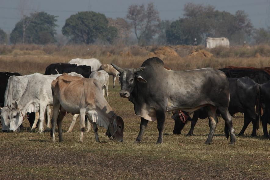
[[[218,111],[221,114],[221,117],[224,119],[226,125],[228,126],[230,136],[231,136],[231,142],[230,144],[233,145],[235,143],[235,131],[232,127],[232,116],[230,115],[227,108],[218,108]],[[227,137],[227,139],[229,136]]]

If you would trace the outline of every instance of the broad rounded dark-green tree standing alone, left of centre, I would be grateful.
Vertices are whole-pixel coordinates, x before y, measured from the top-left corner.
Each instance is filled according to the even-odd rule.
[[[62,33],[75,43],[90,44],[98,39],[112,43],[117,36],[117,28],[108,26],[108,23],[104,14],[79,12],[66,20]]]

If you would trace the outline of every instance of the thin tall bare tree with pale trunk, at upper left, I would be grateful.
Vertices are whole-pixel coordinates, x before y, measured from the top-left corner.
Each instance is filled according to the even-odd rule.
[[[34,7],[34,2],[31,0],[20,0],[19,3],[19,10],[20,10],[20,16],[23,22],[23,38],[22,43],[24,44],[25,39],[25,32],[27,30],[27,27],[31,23],[31,21],[35,18],[34,12],[37,11],[37,7]],[[28,17],[28,14],[33,13],[33,16]]]

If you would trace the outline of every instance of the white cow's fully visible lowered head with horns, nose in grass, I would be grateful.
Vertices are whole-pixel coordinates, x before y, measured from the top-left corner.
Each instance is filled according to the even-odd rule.
[[[23,113],[18,108],[17,102],[15,103],[15,108],[10,108],[9,119],[10,119],[9,130],[17,131],[17,129],[23,122]]]

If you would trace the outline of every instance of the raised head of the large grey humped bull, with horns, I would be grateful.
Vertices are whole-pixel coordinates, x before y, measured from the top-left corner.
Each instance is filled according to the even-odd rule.
[[[140,75],[136,74],[137,72],[144,70],[145,67],[139,67],[137,69],[122,69],[117,65],[112,63],[114,69],[120,72],[119,82],[121,84],[120,96],[122,98],[128,98],[133,91],[136,81],[147,83],[147,81]]]

